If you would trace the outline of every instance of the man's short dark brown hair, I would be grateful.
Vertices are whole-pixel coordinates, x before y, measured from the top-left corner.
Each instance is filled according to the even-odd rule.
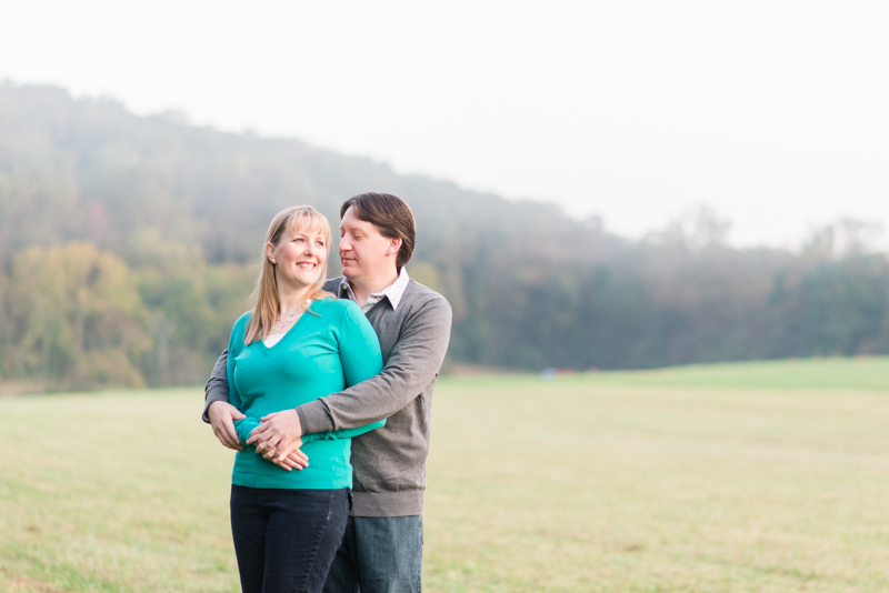
[[[401,239],[401,249],[398,250],[396,267],[400,270],[410,261],[413,254],[413,244],[417,240],[417,223],[410,207],[397,195],[391,193],[367,192],[352,195],[340,207],[340,218],[350,208],[356,218],[370,222],[387,239]]]

